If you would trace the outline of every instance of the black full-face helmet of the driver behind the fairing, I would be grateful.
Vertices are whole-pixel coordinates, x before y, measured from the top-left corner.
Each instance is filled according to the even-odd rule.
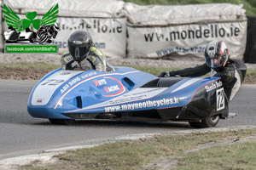
[[[88,31],[74,31],[68,38],[69,54],[80,62],[89,54],[92,44],[92,38]]]

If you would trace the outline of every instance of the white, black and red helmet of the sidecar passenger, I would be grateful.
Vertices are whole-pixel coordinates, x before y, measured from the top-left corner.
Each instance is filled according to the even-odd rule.
[[[206,63],[213,70],[218,71],[226,65],[229,59],[229,49],[223,41],[212,41],[205,50]]]

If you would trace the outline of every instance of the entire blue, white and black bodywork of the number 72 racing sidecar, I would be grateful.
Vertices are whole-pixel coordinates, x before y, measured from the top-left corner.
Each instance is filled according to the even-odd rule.
[[[228,112],[219,77],[159,78],[129,67],[52,71],[33,88],[27,110],[58,119],[154,111],[165,120],[198,120]]]

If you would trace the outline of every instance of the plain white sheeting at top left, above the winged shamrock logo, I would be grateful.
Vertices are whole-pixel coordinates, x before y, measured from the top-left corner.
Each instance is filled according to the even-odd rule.
[[[17,14],[37,11],[39,15],[47,13],[56,3],[59,4],[58,16],[88,18],[124,17],[124,2],[119,0],[3,0]]]

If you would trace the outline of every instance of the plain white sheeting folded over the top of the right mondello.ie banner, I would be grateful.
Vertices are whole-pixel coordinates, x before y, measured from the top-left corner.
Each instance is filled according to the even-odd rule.
[[[246,20],[242,4],[207,3],[190,5],[137,5],[125,3],[132,26],[168,26]]]

